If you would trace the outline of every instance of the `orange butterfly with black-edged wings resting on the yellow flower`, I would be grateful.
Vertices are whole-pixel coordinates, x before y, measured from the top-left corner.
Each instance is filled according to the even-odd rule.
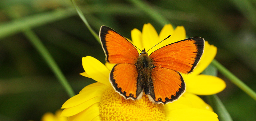
[[[204,51],[201,37],[174,42],[149,56],[144,48],[139,54],[136,46],[108,26],[100,27],[99,37],[106,61],[115,64],[109,75],[115,91],[132,100],[145,94],[157,104],[178,100],[186,90],[180,73],[191,73]]]

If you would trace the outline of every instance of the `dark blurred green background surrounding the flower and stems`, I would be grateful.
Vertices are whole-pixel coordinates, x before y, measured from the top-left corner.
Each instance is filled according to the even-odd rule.
[[[143,1],[187,37],[203,37],[218,48],[216,60],[256,91],[256,1]],[[93,30],[109,26],[131,39],[131,30],[163,24],[131,1],[76,0]],[[84,72],[82,57],[105,63],[96,39],[69,0],[0,0],[0,120],[40,120],[69,99],[47,63],[23,33],[31,27],[46,46],[75,93],[94,80]],[[221,74],[227,87],[217,94],[234,121],[255,121],[256,102]],[[207,80],[206,80],[207,81]],[[204,97],[203,97],[204,98]]]

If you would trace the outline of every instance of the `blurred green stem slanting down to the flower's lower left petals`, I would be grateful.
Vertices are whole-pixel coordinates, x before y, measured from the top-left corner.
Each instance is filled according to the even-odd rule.
[[[55,76],[58,78],[62,86],[66,89],[69,97],[75,96],[75,93],[72,89],[72,87],[69,85],[67,79],[63,75],[63,73],[60,71],[60,68],[52,58],[51,54],[47,51],[43,43],[40,41],[40,39],[36,36],[36,34],[31,30],[31,28],[24,28],[23,29],[24,34],[28,37],[30,42],[36,47],[37,51],[41,54],[41,56],[44,58],[46,63],[49,65],[49,67],[52,69],[52,72],[55,74]]]

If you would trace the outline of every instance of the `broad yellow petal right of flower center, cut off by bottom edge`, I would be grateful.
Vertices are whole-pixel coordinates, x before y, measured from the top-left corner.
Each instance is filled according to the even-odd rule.
[[[217,114],[197,108],[175,109],[165,114],[168,121],[218,121]]]

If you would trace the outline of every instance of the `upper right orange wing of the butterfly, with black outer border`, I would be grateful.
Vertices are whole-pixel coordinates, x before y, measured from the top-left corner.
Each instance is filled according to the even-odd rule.
[[[157,49],[149,57],[155,66],[190,73],[199,62],[203,51],[204,39],[192,37]]]

